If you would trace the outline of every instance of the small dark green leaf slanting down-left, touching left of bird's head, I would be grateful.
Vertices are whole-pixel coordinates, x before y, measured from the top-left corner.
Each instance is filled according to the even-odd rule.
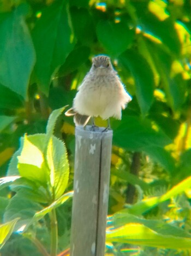
[[[90,48],[86,46],[81,46],[71,51],[64,64],[60,67],[58,75],[65,76],[76,70],[88,60],[89,54]]]

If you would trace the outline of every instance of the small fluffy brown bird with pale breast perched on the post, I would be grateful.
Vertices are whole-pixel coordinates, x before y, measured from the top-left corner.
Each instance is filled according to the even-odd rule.
[[[89,118],[97,116],[103,120],[109,117],[121,120],[121,110],[131,100],[110,58],[98,55],[92,59],[92,67],[78,88],[73,107],[65,115],[74,116],[76,126],[86,126]]]

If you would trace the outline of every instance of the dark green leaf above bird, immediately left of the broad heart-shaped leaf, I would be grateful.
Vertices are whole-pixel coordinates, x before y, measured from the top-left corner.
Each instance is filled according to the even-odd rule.
[[[96,38],[96,31],[88,9],[73,7],[70,13],[75,36],[83,45],[91,45]]]

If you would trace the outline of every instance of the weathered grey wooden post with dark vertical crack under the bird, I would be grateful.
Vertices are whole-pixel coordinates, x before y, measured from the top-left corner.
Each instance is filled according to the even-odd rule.
[[[70,256],[104,256],[112,130],[76,127]]]

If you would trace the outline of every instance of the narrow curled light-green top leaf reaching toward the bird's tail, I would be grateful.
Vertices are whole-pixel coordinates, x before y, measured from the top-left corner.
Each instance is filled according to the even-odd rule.
[[[65,106],[61,107],[60,109],[56,109],[56,110],[52,111],[51,115],[49,116],[49,120],[48,120],[47,126],[46,126],[47,139],[50,139],[50,137],[53,135],[53,131],[54,131],[55,125],[56,125],[56,120],[61,115],[61,113],[64,111],[64,109],[65,109]]]

